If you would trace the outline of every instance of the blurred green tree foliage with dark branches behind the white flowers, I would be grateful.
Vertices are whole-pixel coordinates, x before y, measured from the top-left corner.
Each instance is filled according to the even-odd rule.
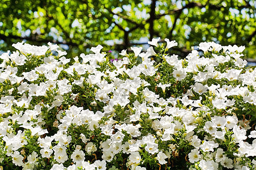
[[[172,53],[181,57],[215,41],[245,45],[246,56],[256,58],[255,7],[255,0],[1,0],[0,50],[24,40],[56,43],[68,57],[98,44],[118,54],[161,37],[176,40]]]

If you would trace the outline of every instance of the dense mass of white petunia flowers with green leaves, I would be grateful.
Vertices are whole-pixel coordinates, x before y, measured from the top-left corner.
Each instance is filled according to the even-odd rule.
[[[255,169],[256,71],[245,48],[202,42],[203,56],[179,59],[168,53],[176,41],[158,41],[111,61],[98,45],[73,62],[51,43],[14,44],[0,56],[0,164]]]

